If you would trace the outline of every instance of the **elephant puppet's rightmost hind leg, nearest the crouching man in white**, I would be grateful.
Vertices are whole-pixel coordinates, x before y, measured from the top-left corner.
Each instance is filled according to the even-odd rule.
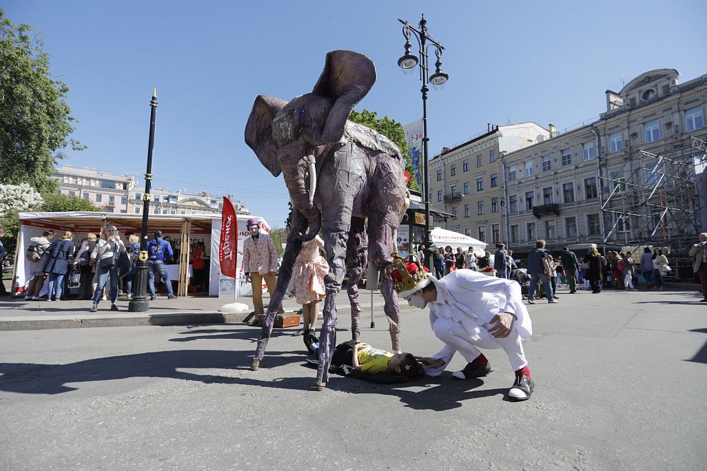
[[[392,252],[397,250],[395,231],[400,220],[405,200],[405,182],[402,161],[390,155],[381,155],[373,174],[368,197],[368,259],[380,272],[392,263]],[[392,280],[380,284],[380,293],[385,299],[383,311],[390,323],[392,350],[400,350],[400,309]]]

